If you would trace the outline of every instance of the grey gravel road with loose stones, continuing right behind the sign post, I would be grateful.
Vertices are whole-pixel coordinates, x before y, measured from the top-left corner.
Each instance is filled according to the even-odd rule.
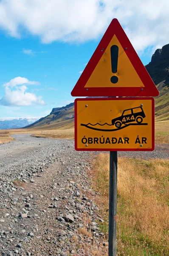
[[[92,248],[105,255],[98,193],[87,175],[98,152],[77,152],[73,140],[13,137],[0,145],[1,255],[90,256]],[[169,145],[118,155],[169,158]]]

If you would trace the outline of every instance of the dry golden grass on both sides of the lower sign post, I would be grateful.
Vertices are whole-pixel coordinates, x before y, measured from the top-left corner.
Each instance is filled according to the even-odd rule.
[[[93,166],[97,204],[108,231],[109,156],[99,154]],[[119,158],[118,256],[169,255],[169,161]]]

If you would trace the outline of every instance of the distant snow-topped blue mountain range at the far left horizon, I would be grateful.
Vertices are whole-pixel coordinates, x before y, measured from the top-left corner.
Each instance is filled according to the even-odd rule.
[[[39,119],[38,117],[27,118],[0,118],[0,130],[23,128]]]

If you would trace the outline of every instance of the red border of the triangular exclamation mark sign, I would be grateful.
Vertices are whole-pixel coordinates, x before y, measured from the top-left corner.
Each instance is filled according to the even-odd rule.
[[[113,35],[123,47],[145,87],[85,87]],[[117,19],[113,19],[71,92],[72,96],[158,96],[159,91]]]

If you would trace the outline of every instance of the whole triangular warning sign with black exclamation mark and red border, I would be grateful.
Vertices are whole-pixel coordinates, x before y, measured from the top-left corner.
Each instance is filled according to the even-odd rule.
[[[72,96],[158,96],[159,91],[117,19],[113,19]]]

